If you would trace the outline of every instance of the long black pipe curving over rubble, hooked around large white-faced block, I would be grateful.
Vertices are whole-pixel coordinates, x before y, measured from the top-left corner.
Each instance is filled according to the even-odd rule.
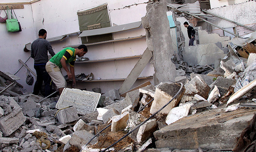
[[[165,108],[174,98],[176,98],[178,96],[178,94],[180,94],[182,88],[183,88],[183,84],[181,84],[181,88],[180,90],[175,94],[175,96],[167,103],[165,104],[161,109],[159,109],[157,112],[155,112],[154,114],[152,114],[148,119],[146,119],[145,121],[143,121],[142,123],[140,123],[139,125],[137,125],[132,131],[130,131],[129,133],[127,133],[126,135],[124,135],[122,138],[120,138],[118,141],[116,141],[115,143],[113,143],[112,145],[108,146],[107,148],[105,148],[104,150],[102,150],[101,152],[104,152],[106,150],[108,150],[109,148],[111,148],[112,146],[116,145],[118,142],[120,142],[121,140],[123,140],[125,137],[127,137],[128,135],[130,135],[133,131],[135,131],[136,129],[138,129],[142,124],[144,124],[145,122],[147,122],[149,119],[151,119],[152,117],[154,117],[158,112],[160,112],[163,108]]]

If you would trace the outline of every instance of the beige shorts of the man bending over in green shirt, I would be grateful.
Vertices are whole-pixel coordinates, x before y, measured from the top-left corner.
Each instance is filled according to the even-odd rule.
[[[55,85],[57,86],[57,89],[67,87],[67,82],[62,75],[62,71],[56,64],[48,61],[45,65],[45,69],[51,76]]]

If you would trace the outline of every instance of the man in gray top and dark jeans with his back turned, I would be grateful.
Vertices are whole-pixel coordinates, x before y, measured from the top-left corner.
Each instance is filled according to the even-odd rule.
[[[52,91],[52,79],[45,70],[45,65],[48,62],[48,52],[51,54],[51,56],[55,55],[50,42],[45,40],[46,35],[46,30],[39,30],[39,38],[31,44],[31,57],[34,59],[34,68],[36,70],[36,82],[33,94],[38,95],[41,90],[42,84],[44,83],[45,97],[49,96]]]

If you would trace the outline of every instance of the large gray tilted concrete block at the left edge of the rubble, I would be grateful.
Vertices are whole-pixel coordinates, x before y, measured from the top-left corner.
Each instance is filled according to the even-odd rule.
[[[0,128],[3,137],[9,136],[15,130],[19,129],[25,121],[26,117],[23,115],[21,107],[13,108],[11,113],[1,117]]]

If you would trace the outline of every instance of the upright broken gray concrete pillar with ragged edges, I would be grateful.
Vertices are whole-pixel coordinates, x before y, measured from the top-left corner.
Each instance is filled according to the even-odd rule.
[[[143,28],[146,29],[146,42],[150,51],[153,51],[154,84],[173,81],[176,77],[175,65],[171,62],[172,40],[167,6],[165,0],[151,1],[146,7],[147,13],[142,17]]]

